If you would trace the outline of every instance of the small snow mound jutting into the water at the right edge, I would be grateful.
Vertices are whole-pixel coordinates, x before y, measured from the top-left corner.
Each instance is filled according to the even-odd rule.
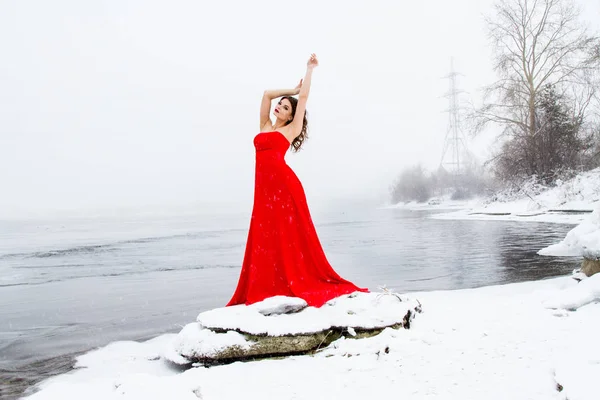
[[[557,244],[541,249],[543,256],[587,256],[600,258],[600,206]]]

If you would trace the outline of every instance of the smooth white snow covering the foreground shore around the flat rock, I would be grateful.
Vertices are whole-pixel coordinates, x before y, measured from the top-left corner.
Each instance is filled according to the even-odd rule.
[[[164,335],[81,356],[29,398],[598,398],[600,274],[410,296],[423,304],[411,329],[314,356],[182,370],[160,357],[176,336]]]

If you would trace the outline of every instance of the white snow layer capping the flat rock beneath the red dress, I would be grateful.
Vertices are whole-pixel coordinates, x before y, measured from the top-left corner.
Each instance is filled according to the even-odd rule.
[[[280,296],[278,301],[284,307],[290,298]],[[272,299],[269,302],[277,306]],[[386,292],[356,292],[330,300],[320,308],[307,307],[300,312],[272,316],[260,312],[264,308],[261,303],[216,308],[201,313],[196,320],[204,328],[251,335],[302,335],[332,327],[383,328],[402,322],[408,310],[419,306],[418,301]]]

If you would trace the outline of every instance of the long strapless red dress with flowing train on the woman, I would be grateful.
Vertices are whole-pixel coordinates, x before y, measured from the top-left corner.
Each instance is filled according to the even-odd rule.
[[[227,305],[282,295],[320,307],[344,294],[366,292],[341,278],[327,261],[302,184],[284,159],[287,138],[278,131],[261,132],[254,146],[254,208],[240,279]]]

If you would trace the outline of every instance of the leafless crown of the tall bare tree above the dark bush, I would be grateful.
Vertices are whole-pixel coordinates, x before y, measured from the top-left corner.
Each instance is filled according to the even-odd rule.
[[[596,94],[586,77],[598,65],[598,39],[579,24],[572,0],[500,0],[494,10],[487,24],[500,79],[485,90],[476,131],[493,122],[505,134],[534,136],[538,97],[547,85],[569,94],[572,110],[585,115]]]

